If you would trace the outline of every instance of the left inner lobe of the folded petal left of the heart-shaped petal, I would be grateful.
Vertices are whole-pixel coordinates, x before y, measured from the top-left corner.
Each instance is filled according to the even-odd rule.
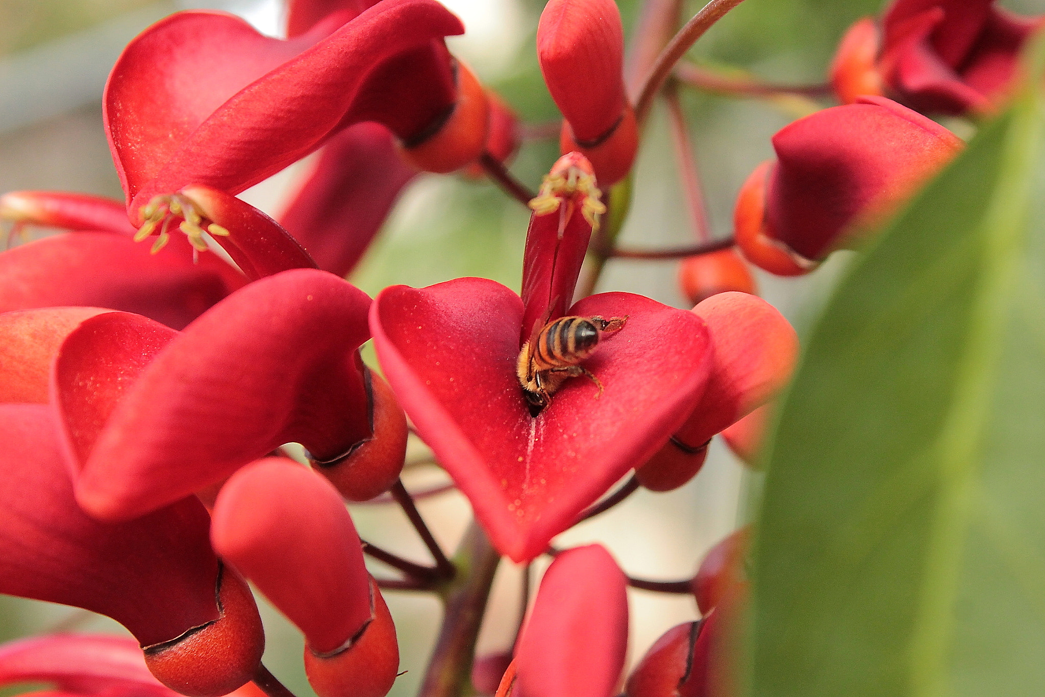
[[[156,354],[178,335],[130,312],[82,322],[61,345],[51,371],[66,455],[74,471],[87,462],[113,409]]]

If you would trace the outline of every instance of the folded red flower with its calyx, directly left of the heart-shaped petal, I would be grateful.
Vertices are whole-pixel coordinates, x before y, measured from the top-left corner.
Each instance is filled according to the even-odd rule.
[[[80,505],[130,519],[289,441],[347,489],[380,493],[402,466],[405,421],[382,418],[398,406],[358,357],[369,306],[301,269],[245,286],[183,332],[118,312],[85,321],[52,385]]]

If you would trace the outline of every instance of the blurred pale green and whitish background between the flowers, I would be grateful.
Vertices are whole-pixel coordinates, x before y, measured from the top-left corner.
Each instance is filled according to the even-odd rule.
[[[451,48],[467,60],[528,123],[557,118],[543,87],[534,51],[539,0],[457,0],[447,4],[468,27]],[[816,83],[835,44],[858,17],[876,13],[879,0],[746,0],[694,48],[712,64],[748,69],[767,79]],[[1024,14],[1045,11],[1045,0],[1001,3]],[[637,0],[619,2],[626,30],[634,26]],[[688,3],[690,14],[700,3]],[[238,11],[262,30],[278,30],[273,0],[155,2],[150,0],[0,0],[0,190],[57,189],[121,198],[101,127],[100,90],[123,43],[150,22],[177,9],[211,6]],[[705,186],[716,235],[730,232],[733,200],[740,183],[770,157],[770,136],[793,115],[767,101],[726,99],[683,90],[683,107]],[[556,159],[553,141],[529,142],[514,173],[532,188]],[[636,169],[634,204],[622,243],[655,248],[693,241],[682,192],[674,172],[663,110],[654,110]],[[300,167],[247,191],[243,198],[278,210]],[[363,264],[351,277],[370,294],[386,285],[422,286],[460,276],[484,276],[517,288],[528,212],[488,183],[457,177],[424,177],[412,185]],[[839,255],[836,255],[839,257]],[[810,277],[789,280],[759,275],[762,294],[799,330],[830,286],[844,258],[833,258]],[[642,293],[678,307],[676,262],[610,261],[599,289]],[[371,356],[372,358],[372,356]],[[421,449],[419,448],[419,451]],[[419,468],[408,486],[439,481]],[[599,540],[634,576],[684,578],[703,553],[743,517],[739,510],[744,473],[718,444],[701,473],[670,494],[641,492],[611,513],[566,533],[560,544]],[[457,494],[426,499],[421,510],[437,536],[452,548],[468,519]],[[361,535],[405,556],[424,560],[424,550],[397,510],[354,507]],[[640,520],[640,522],[636,522]],[[379,572],[387,573],[388,570]],[[483,650],[506,648],[517,622],[518,570],[498,574]],[[401,669],[394,695],[410,695],[420,679],[438,627],[435,600],[389,594],[401,643]],[[631,660],[668,627],[696,617],[684,597],[633,591]],[[0,640],[46,631],[63,623],[79,629],[119,628],[103,619],[86,622],[68,608],[0,598]],[[297,631],[274,611],[265,612],[265,661],[298,695],[309,695]],[[18,690],[7,690],[14,694]]]

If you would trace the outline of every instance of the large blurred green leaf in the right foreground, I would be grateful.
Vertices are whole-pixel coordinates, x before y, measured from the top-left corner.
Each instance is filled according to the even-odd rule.
[[[1043,132],[1028,88],[828,304],[769,455],[752,695],[1045,694]]]

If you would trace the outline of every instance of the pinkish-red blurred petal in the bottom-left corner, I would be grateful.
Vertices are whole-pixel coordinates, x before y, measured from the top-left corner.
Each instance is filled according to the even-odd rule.
[[[114,688],[152,697],[178,694],[148,672],[138,642],[115,634],[47,634],[8,642],[0,646],[0,686],[14,682],[50,682],[76,694]]]

